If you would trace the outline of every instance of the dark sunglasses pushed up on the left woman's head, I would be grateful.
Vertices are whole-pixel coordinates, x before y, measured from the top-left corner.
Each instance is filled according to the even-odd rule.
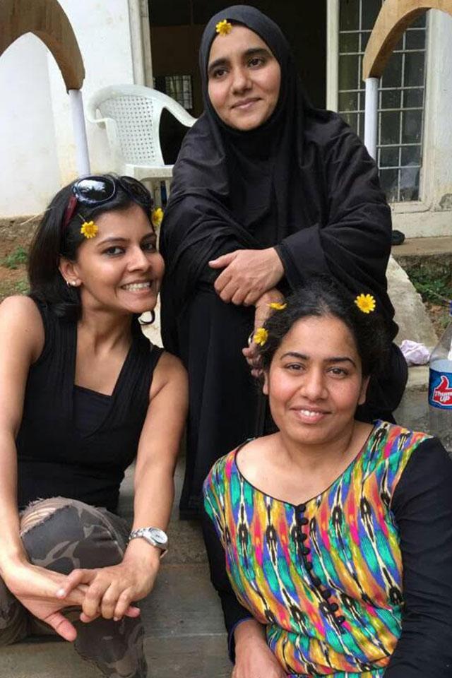
[[[83,177],[72,186],[72,195],[64,213],[63,230],[76,213],[78,203],[95,207],[112,200],[117,193],[118,186],[128,194],[132,200],[146,210],[150,210],[153,199],[148,189],[133,177]]]

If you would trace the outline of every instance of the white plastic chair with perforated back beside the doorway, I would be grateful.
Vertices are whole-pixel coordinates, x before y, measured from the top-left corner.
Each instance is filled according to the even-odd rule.
[[[102,88],[90,97],[86,111],[90,122],[105,126],[116,171],[148,180],[157,206],[161,204],[160,182],[165,181],[169,195],[173,168],[165,165],[160,148],[159,126],[164,108],[186,127],[196,122],[177,101],[142,85]]]

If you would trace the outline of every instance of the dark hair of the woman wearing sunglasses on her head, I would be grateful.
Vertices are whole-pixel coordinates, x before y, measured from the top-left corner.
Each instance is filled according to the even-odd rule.
[[[97,176],[116,179],[114,174]],[[65,257],[70,261],[76,261],[78,247],[85,240],[85,236],[81,234],[83,220],[94,220],[104,212],[125,210],[134,204],[133,198],[117,184],[114,198],[106,203],[93,207],[77,203],[73,217],[64,227],[64,215],[74,183],[64,186],[64,189],[54,196],[45,210],[44,218],[37,227],[28,256],[30,297],[49,304],[54,314],[70,321],[80,317],[80,292],[77,287],[66,285],[58,268],[60,258]],[[151,198],[149,201],[151,204]],[[150,215],[148,218],[150,219]]]

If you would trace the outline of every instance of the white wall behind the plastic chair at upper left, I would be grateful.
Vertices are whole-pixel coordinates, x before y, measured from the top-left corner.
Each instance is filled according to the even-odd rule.
[[[83,99],[133,83],[127,0],[59,0],[85,64]],[[56,62],[34,35],[0,58],[0,217],[39,213],[76,176],[69,97]],[[104,133],[87,123],[93,172],[109,168]]]

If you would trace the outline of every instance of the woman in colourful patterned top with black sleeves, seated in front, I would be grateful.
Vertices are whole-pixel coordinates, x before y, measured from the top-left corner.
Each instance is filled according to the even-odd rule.
[[[258,338],[278,432],[204,486],[233,678],[452,676],[452,463],[355,420],[384,359],[374,299],[355,301],[315,280],[275,311]]]

